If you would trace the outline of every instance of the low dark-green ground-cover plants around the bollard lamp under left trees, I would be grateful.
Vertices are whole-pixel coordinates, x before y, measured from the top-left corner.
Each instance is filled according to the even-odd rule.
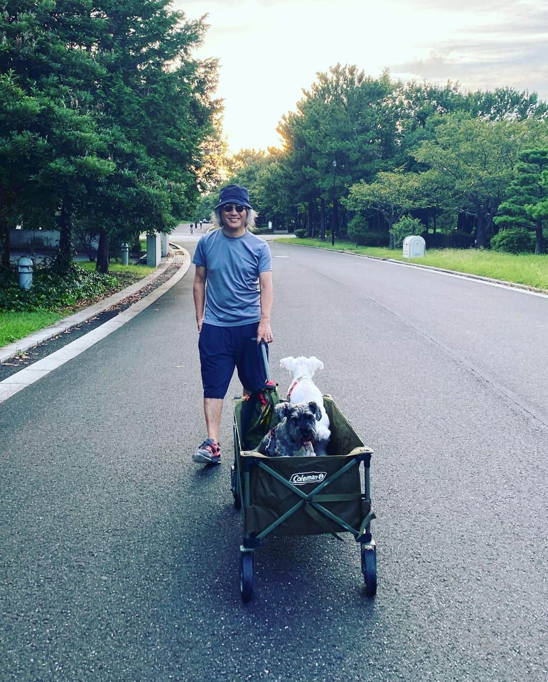
[[[17,267],[4,268],[0,275],[0,308],[3,310],[57,310],[73,306],[83,299],[96,299],[115,288],[109,275],[87,272],[72,265],[60,275],[51,263],[34,267],[29,291],[18,286]]]

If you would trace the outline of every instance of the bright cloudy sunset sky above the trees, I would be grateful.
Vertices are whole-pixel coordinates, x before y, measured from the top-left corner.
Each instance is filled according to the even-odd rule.
[[[174,0],[207,14],[193,56],[219,59],[229,151],[279,147],[302,89],[337,63],[394,80],[511,86],[548,100],[548,0]]]

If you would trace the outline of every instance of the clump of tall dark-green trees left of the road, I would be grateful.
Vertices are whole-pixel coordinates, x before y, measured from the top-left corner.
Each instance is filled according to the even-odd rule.
[[[110,239],[171,231],[210,182],[217,65],[189,56],[206,27],[167,0],[1,7],[0,72],[11,74],[19,91],[8,95],[27,116],[14,120],[10,102],[0,102],[10,152],[0,226],[31,210],[42,222],[55,216],[66,267],[78,220],[100,235],[97,268],[108,271]]]

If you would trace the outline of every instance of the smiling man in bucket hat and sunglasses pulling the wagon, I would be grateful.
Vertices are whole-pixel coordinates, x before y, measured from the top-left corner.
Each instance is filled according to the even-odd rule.
[[[223,188],[213,211],[219,229],[200,237],[192,260],[208,434],[193,454],[194,462],[221,462],[221,411],[234,367],[245,395],[266,379],[259,343],[273,341],[272,265],[268,244],[249,231],[255,216],[245,187]]]

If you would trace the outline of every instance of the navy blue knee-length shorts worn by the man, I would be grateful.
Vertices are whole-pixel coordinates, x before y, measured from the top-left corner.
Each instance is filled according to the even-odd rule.
[[[261,349],[256,341],[258,322],[240,327],[202,325],[198,350],[202,366],[204,398],[224,398],[228,385],[238,369],[244,388],[257,391],[264,386],[266,376]],[[266,346],[268,357],[269,348]]]

